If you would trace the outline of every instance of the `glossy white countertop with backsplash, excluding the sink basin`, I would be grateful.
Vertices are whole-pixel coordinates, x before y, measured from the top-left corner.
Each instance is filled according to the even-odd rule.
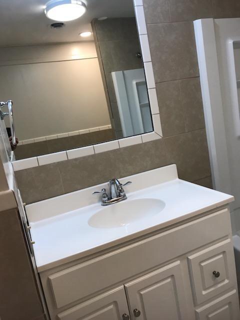
[[[155,198],[165,202],[163,210],[159,214],[149,216],[149,219],[140,219],[120,227],[91,227],[88,225],[89,217],[102,206],[99,202],[85,206],[85,202],[89,203],[88,200],[94,198],[91,195],[92,190],[101,188],[104,184],[26,206],[31,237],[35,241],[33,249],[39,272],[169,226],[234,200],[231,195],[178,179],[175,165],[120,180],[124,182],[128,179],[132,180],[132,184],[125,187],[127,193],[125,203],[137,198]],[[134,190],[136,189],[134,183],[139,182],[139,179],[143,181],[138,183],[141,188]],[[156,184],[157,180],[159,184]],[[154,185],[149,186],[151,182]],[[142,188],[143,184],[147,187]],[[127,189],[129,189],[128,192]],[[79,208],[75,208],[77,207],[76,199],[79,200]],[[96,200],[98,199],[94,198],[94,202]],[[121,203],[123,201],[112,205],[121,205]]]

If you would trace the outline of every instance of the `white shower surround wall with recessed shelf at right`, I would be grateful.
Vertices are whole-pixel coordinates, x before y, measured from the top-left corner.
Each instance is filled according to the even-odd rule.
[[[213,186],[233,194],[240,230],[240,18],[194,21]]]

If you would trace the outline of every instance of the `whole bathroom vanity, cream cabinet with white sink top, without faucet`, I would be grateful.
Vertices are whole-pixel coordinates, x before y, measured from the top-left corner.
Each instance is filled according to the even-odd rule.
[[[50,319],[239,319],[233,197],[175,165],[128,180],[107,207],[106,183],[26,205]]]

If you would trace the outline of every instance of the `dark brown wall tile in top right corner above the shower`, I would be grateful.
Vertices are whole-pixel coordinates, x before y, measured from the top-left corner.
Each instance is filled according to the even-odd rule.
[[[214,18],[240,17],[239,0],[212,0]]]

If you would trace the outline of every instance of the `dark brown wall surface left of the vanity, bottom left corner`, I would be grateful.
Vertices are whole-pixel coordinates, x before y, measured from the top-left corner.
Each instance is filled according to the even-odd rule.
[[[44,318],[17,209],[0,212],[0,318]]]

